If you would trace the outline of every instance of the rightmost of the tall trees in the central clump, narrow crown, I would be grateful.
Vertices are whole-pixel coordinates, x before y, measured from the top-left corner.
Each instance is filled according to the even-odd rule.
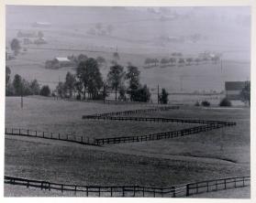
[[[128,80],[128,94],[130,101],[135,100],[136,91],[139,89],[139,74],[140,71],[135,66],[128,66],[128,72],[126,74],[126,79]]]

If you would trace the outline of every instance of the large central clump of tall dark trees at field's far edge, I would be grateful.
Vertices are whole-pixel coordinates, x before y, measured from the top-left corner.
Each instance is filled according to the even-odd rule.
[[[150,90],[147,85],[140,83],[139,74],[135,66],[128,65],[126,72],[123,66],[116,63],[110,67],[106,80],[103,80],[98,59],[89,58],[79,63],[75,74],[67,73],[65,81],[59,82],[56,92],[60,97],[72,97],[76,92],[79,100],[85,100],[86,94],[89,99],[97,100],[105,99],[108,91],[113,90],[116,100],[127,100],[128,94],[130,101],[149,102]]]

